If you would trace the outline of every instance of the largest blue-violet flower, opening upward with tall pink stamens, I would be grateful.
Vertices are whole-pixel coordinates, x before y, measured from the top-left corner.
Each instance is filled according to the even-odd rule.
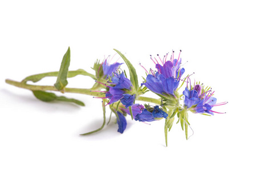
[[[174,52],[173,52],[174,55]],[[178,84],[180,83],[181,76],[184,74],[185,69],[180,68],[181,59],[180,54],[178,55],[178,59],[173,59],[173,55],[170,60],[167,60],[168,54],[164,56],[161,60],[159,57],[161,64],[151,57],[153,62],[156,64],[157,72],[150,70],[151,74],[147,71],[147,79],[145,83],[142,83],[141,86],[145,85],[152,92],[161,94],[161,95],[174,95],[174,91],[178,88]],[[159,55],[157,55],[159,56]],[[144,67],[143,67],[144,68]]]

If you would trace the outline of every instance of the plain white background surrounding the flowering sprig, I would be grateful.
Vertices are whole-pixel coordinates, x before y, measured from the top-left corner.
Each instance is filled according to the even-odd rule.
[[[1,1],[0,170],[255,170],[255,16],[253,1]],[[149,55],[174,50],[177,57],[181,49],[185,74],[195,72],[217,102],[229,101],[214,108],[226,114],[190,113],[194,135],[186,140],[174,124],[167,148],[164,120],[147,125],[127,117],[121,135],[112,117],[103,131],[79,136],[101,126],[100,99],[67,93],[86,107],[44,103],[5,83],[58,71],[68,46],[70,70],[94,73],[94,61],[116,48],[140,82],[140,62],[153,68]],[[84,76],[68,81],[94,84]]]

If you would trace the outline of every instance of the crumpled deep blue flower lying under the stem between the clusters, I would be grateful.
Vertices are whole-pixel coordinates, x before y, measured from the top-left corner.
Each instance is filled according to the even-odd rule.
[[[149,108],[149,106],[144,108],[141,113],[138,113],[135,116],[135,120],[142,121],[142,122],[144,121],[151,122],[157,119],[161,119],[162,117],[166,119],[166,117],[168,117],[168,114],[162,111],[162,109],[160,109],[158,105],[156,105],[153,108]]]

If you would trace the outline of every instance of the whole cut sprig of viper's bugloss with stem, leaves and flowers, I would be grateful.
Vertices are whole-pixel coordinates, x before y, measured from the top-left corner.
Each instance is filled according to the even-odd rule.
[[[117,132],[120,133],[124,133],[127,127],[126,116],[131,116],[132,120],[134,118],[135,121],[143,123],[165,120],[164,132],[166,146],[167,133],[172,128],[175,118],[178,119],[177,123],[181,124],[182,130],[185,128],[186,139],[188,139],[188,127],[190,127],[188,112],[208,116],[212,116],[214,113],[222,113],[216,112],[213,107],[224,105],[227,102],[217,103],[216,97],[213,97],[214,91],[212,91],[212,88],[205,87],[200,82],[194,82],[192,84],[190,81],[192,74],[184,76],[185,69],[181,64],[181,51],[177,59],[174,59],[174,51],[172,55],[166,54],[164,58],[160,58],[159,55],[156,58],[151,56],[155,70],[147,70],[147,67],[141,66],[146,71],[145,74],[147,76],[143,83],[138,82],[137,72],[131,62],[120,51],[115,51],[123,58],[124,63],[127,65],[130,78],[127,78],[125,70],[121,70],[120,68],[123,63],[111,63],[113,58],[111,56],[108,56],[102,62],[96,60],[94,67],[92,67],[95,70],[95,74],[90,74],[82,69],[68,71],[68,67],[70,66],[70,48],[68,47],[66,54],[63,56],[59,71],[31,75],[23,79],[22,82],[6,79],[6,83],[29,89],[37,99],[42,101],[59,100],[84,106],[82,101],[64,96],[56,96],[54,93],[48,91],[82,93],[102,99],[102,126],[95,131],[81,135],[89,135],[104,128],[106,124],[106,106],[111,111],[109,121],[112,113],[115,113],[118,126]],[[76,75],[90,76],[95,80],[95,83],[89,89],[67,88],[67,78],[72,78]],[[27,84],[28,81],[35,83],[47,76],[56,76],[54,86]],[[185,88],[182,87],[184,83],[186,85]],[[182,94],[178,92],[181,88],[183,89]],[[159,98],[145,97],[144,94],[148,91],[156,93]],[[144,101],[145,103],[140,104],[137,101]]]

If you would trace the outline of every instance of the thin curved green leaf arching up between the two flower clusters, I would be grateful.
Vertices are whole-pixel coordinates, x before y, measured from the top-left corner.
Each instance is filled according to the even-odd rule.
[[[123,58],[124,62],[127,64],[127,67],[129,68],[129,74],[130,74],[130,80],[132,82],[133,87],[135,87],[135,90],[139,90],[139,83],[138,83],[138,76],[136,74],[135,68],[132,66],[131,62],[118,50],[114,48],[114,50]]]

